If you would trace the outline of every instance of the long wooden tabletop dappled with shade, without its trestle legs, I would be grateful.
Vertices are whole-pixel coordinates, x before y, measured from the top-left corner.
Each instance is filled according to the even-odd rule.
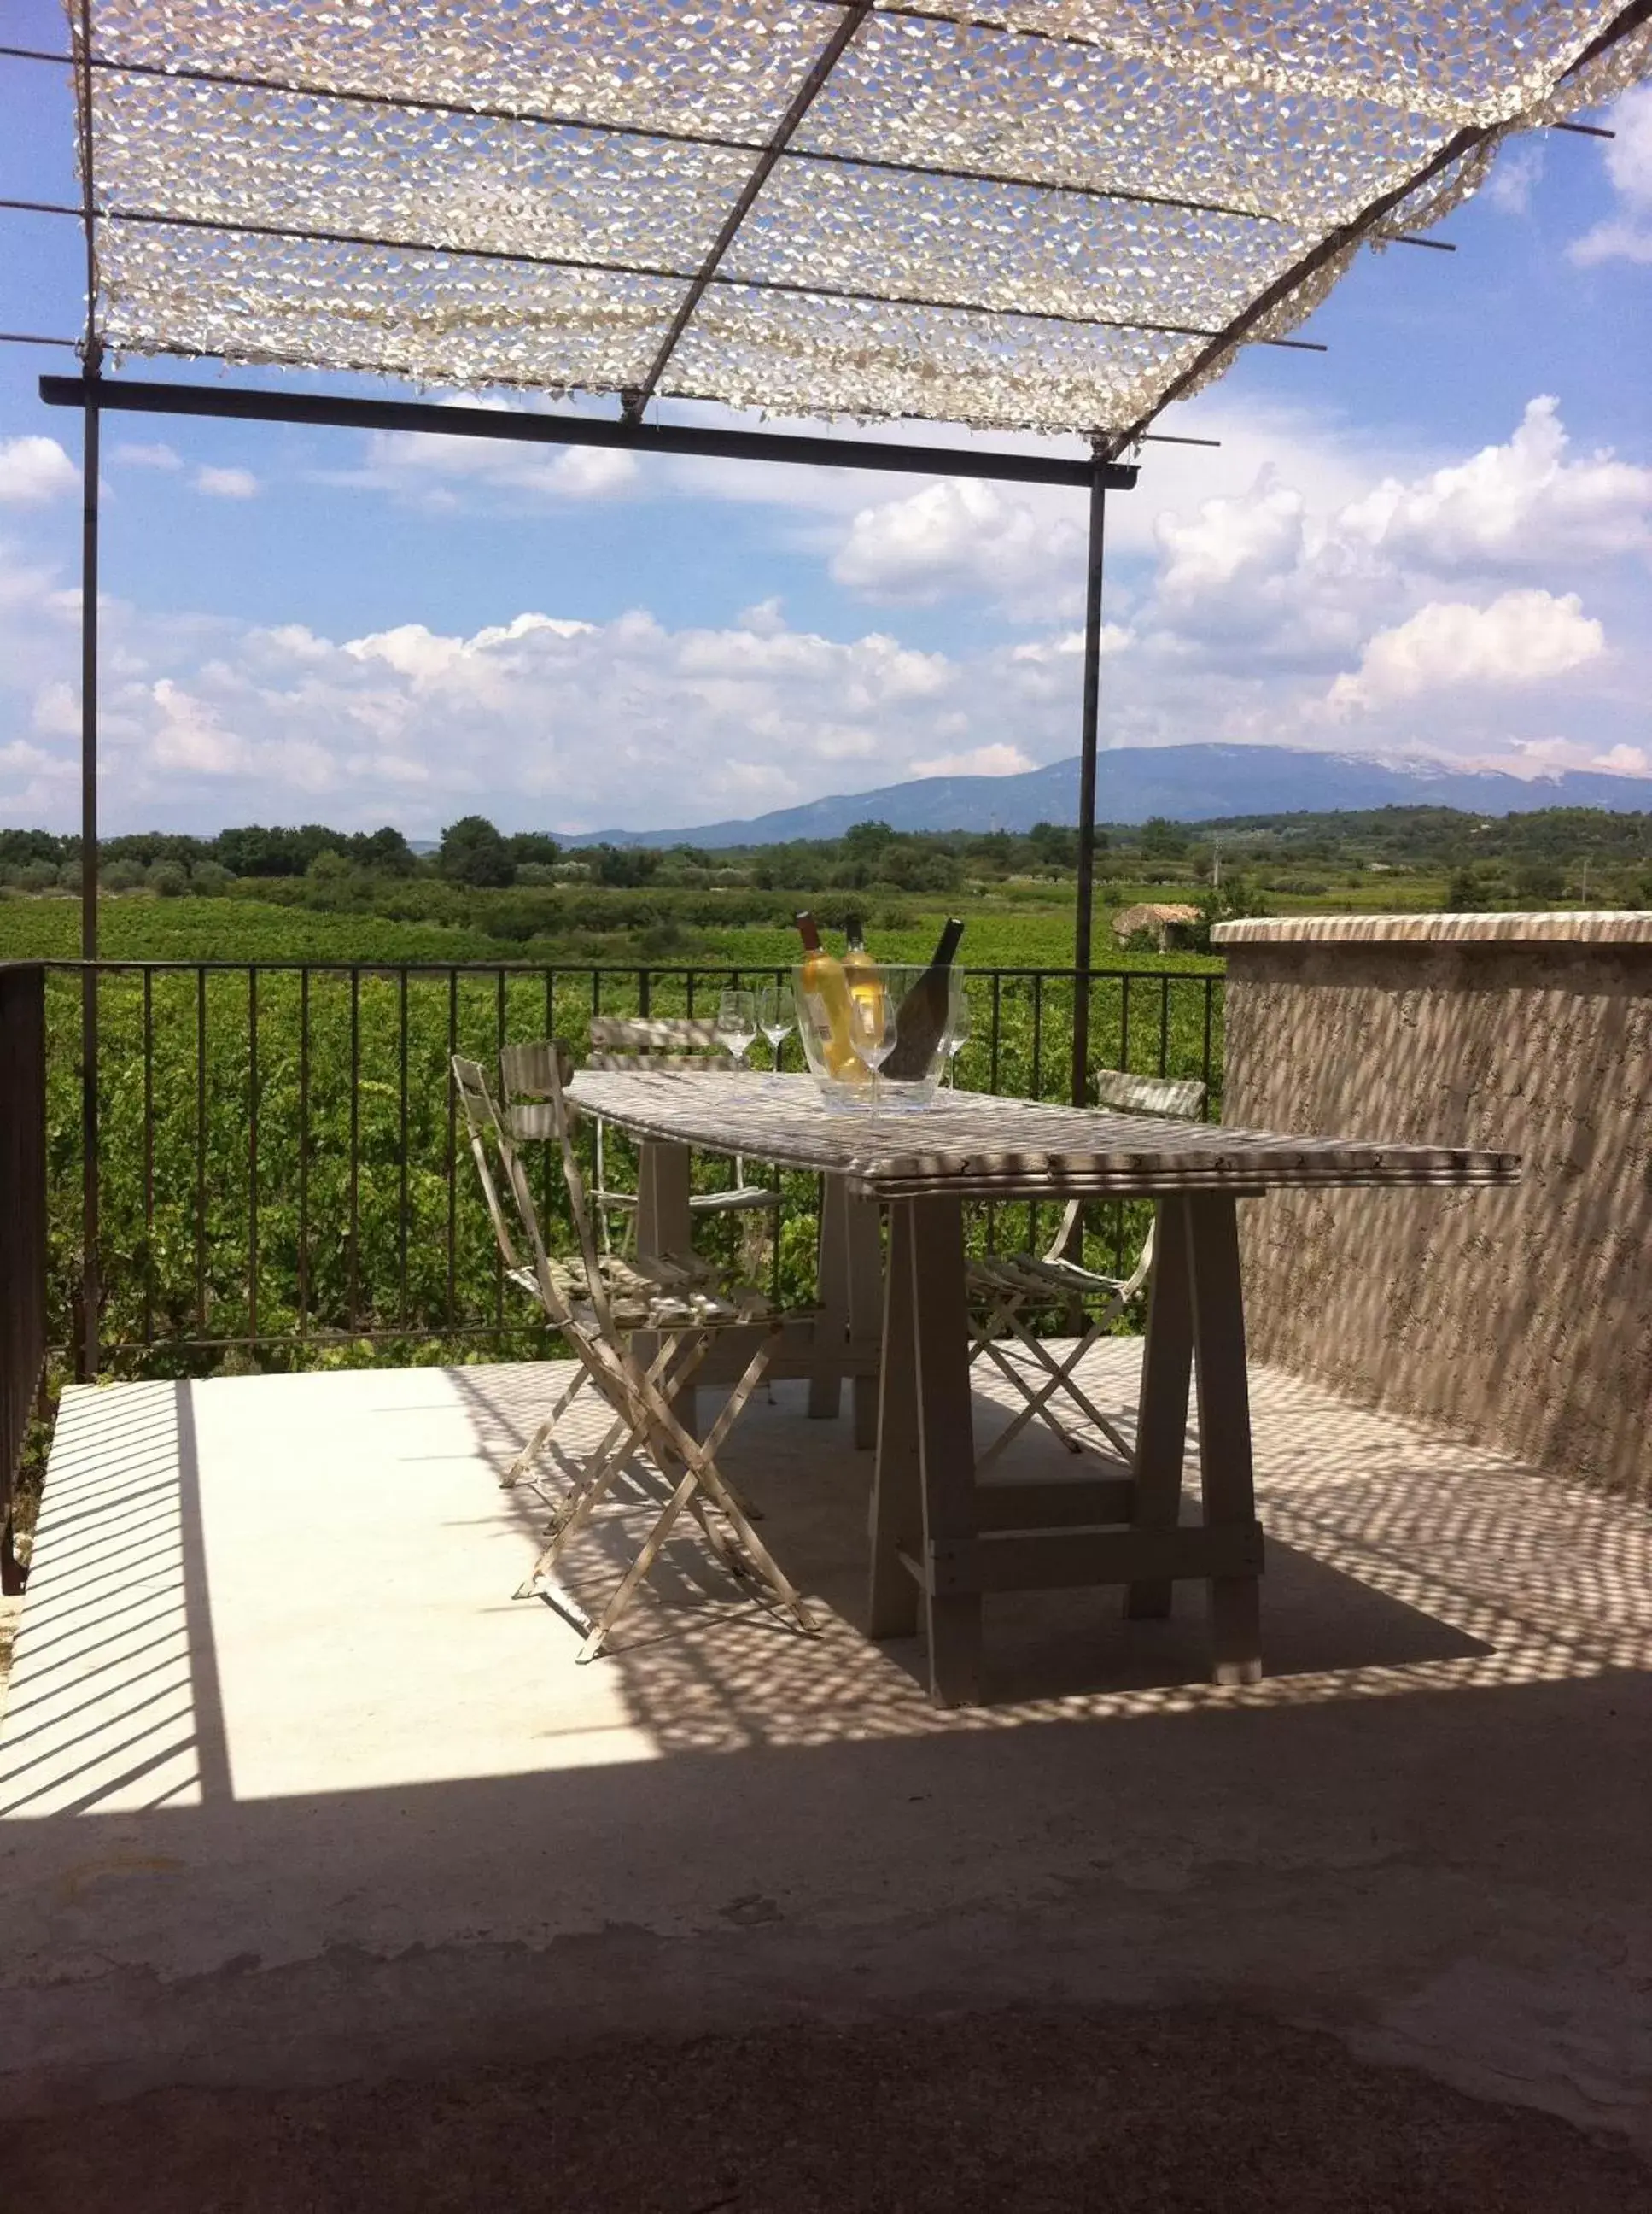
[[[571,1098],[637,1138],[825,1169],[867,1198],[1460,1189],[1519,1180],[1517,1153],[1298,1138],[984,1092],[940,1092],[918,1114],[827,1114],[809,1076],[582,1069]]]

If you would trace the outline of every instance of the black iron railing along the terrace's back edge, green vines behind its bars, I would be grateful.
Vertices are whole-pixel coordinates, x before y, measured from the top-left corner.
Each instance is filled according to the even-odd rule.
[[[783,981],[783,968],[533,968],[272,961],[104,961],[97,979],[95,1209],[84,1207],[84,963],[46,963],[49,1339],[86,1366],[199,1370],[529,1351],[473,1191],[447,1076],[453,1052],[491,1061],[511,1038],[557,1034],[584,1056],[593,1014],[710,1014],[725,985]],[[1066,1098],[1070,970],[975,970],[973,1030],[958,1083]],[[1097,970],[1088,979],[1090,1063],[1199,1076],[1221,1094],[1221,976]],[[754,1061],[761,1065],[759,1043]],[[796,1063],[796,1038],[790,1063]],[[626,1173],[617,1142],[617,1171]],[[708,1182],[728,1165],[705,1160]],[[765,1266],[807,1295],[816,1180],[778,1178],[781,1227]],[[562,1224],[544,1162],[542,1207]],[[1139,1213],[1139,1211],[1137,1211]],[[97,1222],[95,1269],[84,1224]],[[975,1235],[1028,1244],[1055,1218],[1026,1204],[984,1211]],[[747,1222],[750,1229],[750,1222]],[[1099,1207],[1088,1235],[1115,1260],[1139,1235],[1130,1209]],[[708,1218],[710,1238],[741,1235]],[[730,1255],[732,1258],[732,1255]]]

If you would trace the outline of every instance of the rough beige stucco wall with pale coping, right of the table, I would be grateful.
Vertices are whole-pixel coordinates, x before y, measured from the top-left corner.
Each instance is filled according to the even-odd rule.
[[[1524,1156],[1510,1191],[1241,1209],[1254,1357],[1652,1497],[1652,917],[1219,939],[1225,1122]]]

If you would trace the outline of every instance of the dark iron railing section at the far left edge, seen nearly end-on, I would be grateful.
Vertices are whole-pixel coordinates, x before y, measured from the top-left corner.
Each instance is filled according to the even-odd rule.
[[[46,1362],[46,992],[0,963],[0,1590],[20,1592],[11,1488]]]

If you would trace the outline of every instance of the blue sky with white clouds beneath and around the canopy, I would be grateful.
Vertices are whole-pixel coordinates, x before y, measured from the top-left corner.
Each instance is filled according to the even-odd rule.
[[[49,0],[4,27],[62,44]],[[1223,443],[1148,447],[1110,503],[1104,744],[1652,777],[1652,91],[1597,120],[1619,137],[1506,153],[1442,228],[1455,255],[1367,255],[1305,332],[1327,354],[1252,350],[1165,416]],[[0,60],[0,195],[77,195],[62,71]],[[0,215],[0,328],[73,334],[80,275],[73,224]],[[0,821],[53,828],[77,813],[80,425],[35,379],[64,365],[0,348]],[[650,828],[1077,748],[1079,494],[104,436],[111,830]]]

